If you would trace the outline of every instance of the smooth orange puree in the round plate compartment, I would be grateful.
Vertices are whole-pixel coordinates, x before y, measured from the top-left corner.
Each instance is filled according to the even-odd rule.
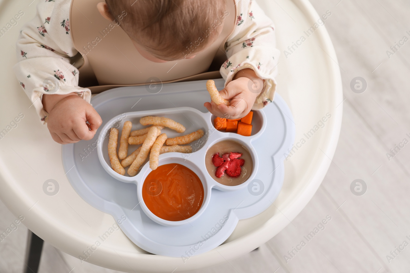
[[[159,166],[145,178],[142,198],[148,209],[168,221],[188,219],[198,212],[204,188],[187,167],[171,163]]]

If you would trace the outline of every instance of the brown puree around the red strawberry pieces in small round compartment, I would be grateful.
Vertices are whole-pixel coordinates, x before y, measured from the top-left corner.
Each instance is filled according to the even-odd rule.
[[[221,178],[218,178],[215,176],[217,167],[215,167],[215,165],[212,163],[212,156],[215,153],[219,153],[219,156],[222,156],[224,153],[229,152],[242,153],[242,156],[240,158],[245,160],[245,164],[242,166],[241,174],[238,177],[230,177],[225,172],[225,174],[221,176]],[[216,182],[221,183],[222,185],[236,186],[244,183],[249,178],[249,176],[251,176],[253,169],[253,160],[249,151],[242,144],[233,140],[223,140],[215,143],[208,149],[205,155],[205,166],[210,176],[212,176],[212,178],[214,178]]]

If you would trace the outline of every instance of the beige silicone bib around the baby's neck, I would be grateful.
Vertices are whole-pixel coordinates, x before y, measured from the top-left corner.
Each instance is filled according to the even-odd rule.
[[[224,23],[219,26],[223,29],[214,43],[193,59],[155,63],[139,54],[118,23],[101,16],[97,10],[101,0],[73,0],[69,18],[71,36],[84,59],[79,68],[80,86],[99,93],[118,86],[221,77],[219,68],[227,59],[225,41],[233,32],[236,19],[234,0],[225,1]],[[117,19],[117,22],[121,24],[121,20]],[[188,53],[187,50],[185,54]]]

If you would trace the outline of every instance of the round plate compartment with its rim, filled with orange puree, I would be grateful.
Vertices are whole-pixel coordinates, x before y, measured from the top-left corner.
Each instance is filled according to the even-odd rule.
[[[146,166],[137,192],[139,205],[150,219],[180,226],[200,217],[210,201],[211,185],[197,165],[171,157],[160,160],[154,171]]]

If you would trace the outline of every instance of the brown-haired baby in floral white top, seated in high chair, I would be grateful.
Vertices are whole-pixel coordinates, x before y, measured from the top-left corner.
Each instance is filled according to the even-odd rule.
[[[41,121],[60,144],[90,140],[102,123],[90,104],[91,91],[78,86],[78,70],[70,63],[70,57],[78,53],[70,35],[71,1],[46,0],[37,6],[36,17],[21,30],[16,45],[18,63],[14,66]],[[202,39],[193,51],[187,53],[187,46],[198,41],[216,19],[227,15],[227,5],[234,6],[235,27],[225,48],[220,49],[225,50],[227,60],[219,70],[225,79],[220,94],[230,100],[230,106],[214,102],[205,102],[204,106],[216,116],[235,119],[272,102],[280,54],[275,48],[273,23],[255,0],[235,1],[106,0],[96,9],[114,23],[121,16],[120,27],[149,65],[194,59],[216,41],[222,27]],[[223,24],[232,21],[224,20]],[[48,77],[59,81],[57,92],[51,94],[43,87]]]

